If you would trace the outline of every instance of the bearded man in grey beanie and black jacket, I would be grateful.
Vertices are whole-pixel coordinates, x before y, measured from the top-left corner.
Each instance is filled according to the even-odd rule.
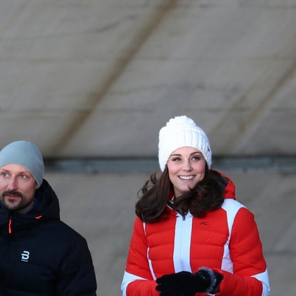
[[[0,151],[0,295],[96,295],[86,240],[60,220],[39,149]]]

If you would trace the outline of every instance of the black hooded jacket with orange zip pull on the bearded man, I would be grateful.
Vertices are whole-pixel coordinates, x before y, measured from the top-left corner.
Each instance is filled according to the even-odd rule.
[[[60,220],[58,198],[43,179],[27,214],[0,208],[0,295],[96,295],[86,240]]]

